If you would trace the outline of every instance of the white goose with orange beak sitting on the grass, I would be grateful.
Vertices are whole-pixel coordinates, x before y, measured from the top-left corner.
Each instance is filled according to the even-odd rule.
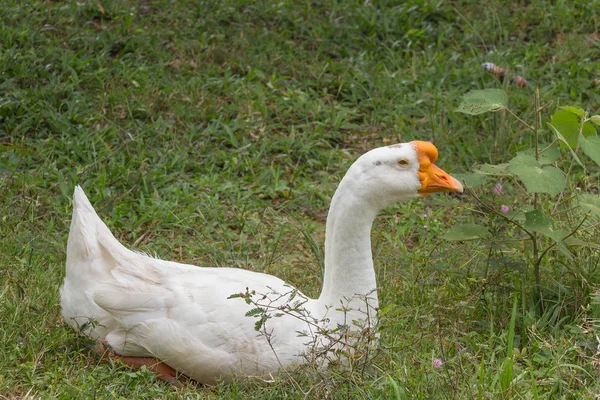
[[[364,320],[367,308],[378,307],[370,240],[377,212],[433,192],[462,191],[456,179],[433,164],[437,155],[431,143],[414,141],[371,150],[350,167],[331,201],[323,289],[318,299],[302,305],[307,318],[335,328]],[[209,384],[303,362],[311,345],[298,332],[311,330],[307,318],[287,313],[269,319],[267,340],[255,330],[256,319],[245,316],[255,306],[243,297],[229,298],[247,290],[288,294],[291,287],[271,275],[201,268],[131,251],[75,188],[62,315],[73,328],[107,344],[114,357],[130,365],[154,365],[163,378],[177,371]],[[340,302],[349,311],[340,311]],[[374,314],[368,314],[367,324]]]

